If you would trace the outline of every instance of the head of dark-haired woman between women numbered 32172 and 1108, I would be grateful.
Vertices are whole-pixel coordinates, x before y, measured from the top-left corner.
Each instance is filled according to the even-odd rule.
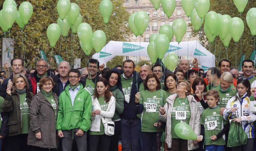
[[[174,74],[168,74],[164,79],[164,90],[169,97],[170,95],[176,93],[176,85],[178,83],[177,76]]]

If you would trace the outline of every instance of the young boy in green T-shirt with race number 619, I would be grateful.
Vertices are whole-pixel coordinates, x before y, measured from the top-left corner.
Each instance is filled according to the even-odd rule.
[[[220,115],[220,107],[217,106],[220,96],[216,90],[209,90],[206,98],[209,107],[202,112],[201,133],[197,137],[197,141],[202,141],[204,136],[206,151],[224,151],[228,121],[225,121],[223,115]]]

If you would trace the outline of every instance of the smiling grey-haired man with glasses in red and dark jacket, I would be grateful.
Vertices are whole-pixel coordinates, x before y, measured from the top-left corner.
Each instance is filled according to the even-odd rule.
[[[39,59],[36,62],[36,71],[30,74],[30,77],[29,77],[29,81],[31,81],[31,84],[32,84],[32,92],[34,94],[40,92],[38,85],[42,77],[44,76],[51,76],[52,78],[54,77],[54,75],[50,71],[47,72],[48,67],[49,67],[48,62],[43,58]]]

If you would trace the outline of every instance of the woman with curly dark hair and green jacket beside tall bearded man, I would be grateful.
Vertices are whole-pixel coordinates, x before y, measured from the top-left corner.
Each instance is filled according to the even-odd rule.
[[[119,89],[121,87],[121,76],[118,69],[111,69],[103,75],[108,80],[108,86],[111,93],[116,98],[116,111],[112,118],[115,122],[115,134],[111,137],[109,150],[118,151],[118,140],[121,135],[120,114],[124,111],[124,93]]]

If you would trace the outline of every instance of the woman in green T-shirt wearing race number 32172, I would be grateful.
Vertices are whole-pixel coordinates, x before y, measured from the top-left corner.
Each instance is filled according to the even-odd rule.
[[[156,134],[159,108],[166,103],[167,94],[161,89],[161,82],[155,73],[148,74],[144,90],[136,93],[135,103],[138,105],[137,114],[141,113],[141,132],[143,150],[153,151],[157,146]],[[160,129],[163,132],[164,128]],[[159,137],[160,138],[160,137]],[[156,148],[158,149],[158,148]]]

